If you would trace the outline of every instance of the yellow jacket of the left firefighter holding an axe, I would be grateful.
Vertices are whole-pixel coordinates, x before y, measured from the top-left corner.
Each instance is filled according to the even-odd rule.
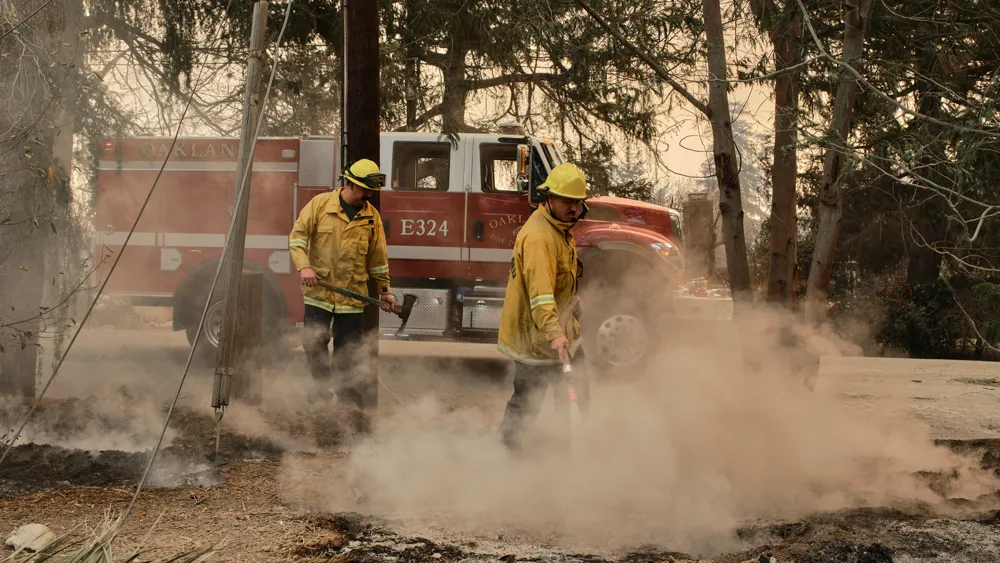
[[[353,220],[340,205],[340,188],[320,194],[299,213],[288,235],[288,250],[295,269],[312,268],[316,277],[368,295],[368,277],[378,284],[379,295],[389,293],[389,256],[385,248],[382,217],[365,202]],[[360,313],[365,303],[318,285],[302,287],[303,301],[333,313]]]

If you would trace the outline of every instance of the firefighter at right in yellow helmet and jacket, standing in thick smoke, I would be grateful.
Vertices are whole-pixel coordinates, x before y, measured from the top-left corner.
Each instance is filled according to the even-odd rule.
[[[514,361],[514,392],[500,426],[511,449],[521,446],[549,385],[558,387],[562,364],[583,360],[578,314],[565,326],[559,316],[575,305],[582,274],[572,229],[587,212],[587,181],[567,162],[553,168],[538,190],[544,200],[514,241],[497,339],[497,349]]]

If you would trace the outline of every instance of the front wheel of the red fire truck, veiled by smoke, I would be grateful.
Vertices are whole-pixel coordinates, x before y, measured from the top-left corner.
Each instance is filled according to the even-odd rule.
[[[673,315],[668,288],[634,256],[608,254],[584,266],[580,328],[587,361],[601,378],[639,377],[653,367]],[[661,296],[664,296],[661,298]]]

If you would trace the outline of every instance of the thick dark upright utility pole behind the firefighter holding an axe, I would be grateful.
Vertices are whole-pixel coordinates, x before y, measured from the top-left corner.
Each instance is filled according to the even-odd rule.
[[[344,84],[341,85],[341,167],[367,158],[379,164],[379,62],[378,3],[374,0],[343,0]],[[379,209],[379,194],[371,204]],[[373,280],[368,294],[378,295]],[[365,307],[364,329],[370,345],[370,362],[362,386],[366,410],[378,409],[378,307]],[[336,343],[334,343],[336,346]]]

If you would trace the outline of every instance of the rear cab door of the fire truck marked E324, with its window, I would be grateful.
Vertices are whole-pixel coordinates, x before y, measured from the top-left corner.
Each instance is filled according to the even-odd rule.
[[[464,271],[466,144],[423,134],[382,134],[381,196],[394,278],[447,279]]]

